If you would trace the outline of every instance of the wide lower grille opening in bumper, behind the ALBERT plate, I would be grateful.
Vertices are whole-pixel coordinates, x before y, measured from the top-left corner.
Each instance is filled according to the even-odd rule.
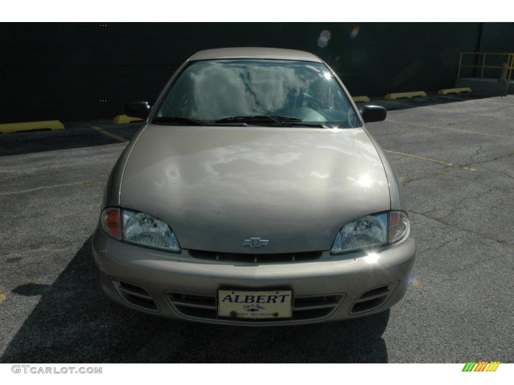
[[[216,296],[166,293],[173,309],[186,318],[218,320],[221,322],[242,321],[247,323],[288,322],[316,320],[331,316],[343,299],[342,294],[325,296],[293,297],[291,318],[246,319],[218,317]]]

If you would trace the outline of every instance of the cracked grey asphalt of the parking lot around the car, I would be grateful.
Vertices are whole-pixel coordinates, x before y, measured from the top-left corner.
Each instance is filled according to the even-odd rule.
[[[0,136],[0,362],[514,361],[514,95],[372,101],[418,242],[406,297],[294,328],[170,321],[101,292],[90,252],[106,177],[140,123]]]

